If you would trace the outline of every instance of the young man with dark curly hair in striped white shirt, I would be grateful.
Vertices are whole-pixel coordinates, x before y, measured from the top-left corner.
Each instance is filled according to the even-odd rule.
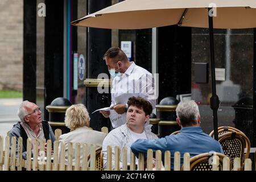
[[[150,102],[141,97],[130,97],[127,109],[127,120],[124,125],[110,131],[102,145],[104,168],[107,167],[107,147],[112,146],[112,168],[114,168],[114,148],[120,147],[120,163],[122,168],[122,150],[127,147],[128,163],[130,163],[130,146],[139,138],[156,139],[158,138],[151,130],[145,127],[145,123],[150,118],[152,106]],[[137,161],[138,163],[138,161]]]

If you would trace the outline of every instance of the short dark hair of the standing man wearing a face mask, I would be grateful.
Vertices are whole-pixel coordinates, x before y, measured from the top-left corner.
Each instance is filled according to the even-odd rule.
[[[126,54],[122,51],[122,49],[118,47],[109,48],[108,51],[106,51],[105,55],[103,56],[104,60],[107,58],[114,58],[115,63],[117,63],[117,61],[119,60],[128,61]]]

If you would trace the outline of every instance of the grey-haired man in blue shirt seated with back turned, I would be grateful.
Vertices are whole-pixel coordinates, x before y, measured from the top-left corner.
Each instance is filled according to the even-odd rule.
[[[181,101],[177,105],[176,114],[176,121],[181,126],[180,133],[155,140],[139,139],[131,145],[131,150],[135,155],[138,153],[146,155],[148,149],[152,149],[154,152],[161,150],[164,163],[164,152],[169,150],[171,152],[171,169],[173,169],[176,151],[180,152],[181,165],[185,152],[189,152],[191,157],[210,151],[223,154],[220,143],[201,129],[199,108],[195,101]]]

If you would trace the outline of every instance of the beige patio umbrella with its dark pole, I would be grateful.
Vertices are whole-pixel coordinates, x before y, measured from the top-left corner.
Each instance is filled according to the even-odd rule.
[[[177,24],[209,28],[214,138],[218,139],[213,28],[256,27],[256,0],[126,0],[71,22],[75,26],[140,29]]]

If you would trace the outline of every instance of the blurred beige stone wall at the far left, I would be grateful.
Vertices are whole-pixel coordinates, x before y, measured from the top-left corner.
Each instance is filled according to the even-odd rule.
[[[0,1],[0,90],[22,90],[23,1]]]

